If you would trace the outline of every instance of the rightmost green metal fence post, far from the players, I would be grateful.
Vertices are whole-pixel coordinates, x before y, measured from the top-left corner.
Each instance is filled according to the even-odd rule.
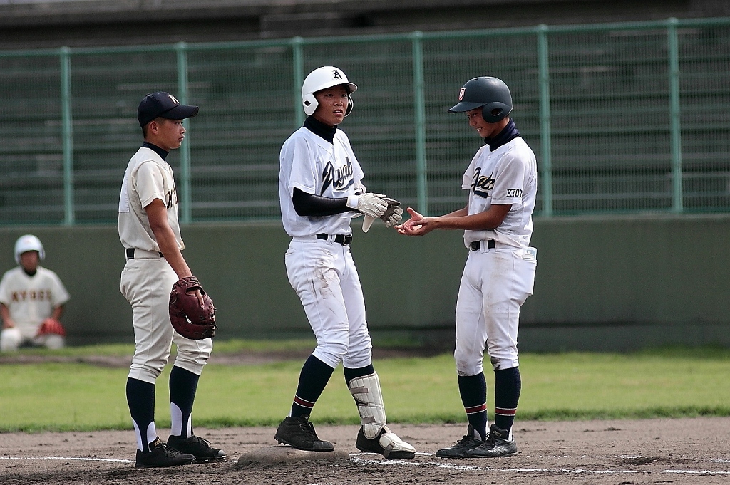
[[[676,18],[670,18],[666,28],[669,54],[669,119],[672,144],[672,212],[683,212],[682,131],[680,128],[680,55]]]

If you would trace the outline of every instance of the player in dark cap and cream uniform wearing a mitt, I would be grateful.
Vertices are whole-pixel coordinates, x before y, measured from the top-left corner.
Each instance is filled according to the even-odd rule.
[[[193,273],[181,253],[185,244],[177,221],[177,195],[172,168],[165,161],[170,150],[183,143],[183,120],[197,115],[198,110],[164,92],[142,99],[137,119],[145,141],[129,160],[119,198],[119,238],[126,257],[120,291],[132,307],[136,344],[126,396],[137,434],[137,467],[170,467],[226,457],[193,434],[191,418],[212,340],[184,338],[174,332],[170,317],[174,313],[173,285],[177,295],[181,287],[183,293],[191,292],[201,313],[212,314],[210,298],[204,297],[197,279],[191,278]],[[180,279],[183,282],[177,285]],[[169,380],[172,429],[164,443],[155,430],[155,381],[167,363],[172,342],[177,346]]]

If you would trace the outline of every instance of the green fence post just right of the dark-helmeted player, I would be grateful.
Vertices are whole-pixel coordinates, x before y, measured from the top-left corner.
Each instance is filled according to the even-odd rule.
[[[548,26],[537,28],[537,62],[539,64],[540,148],[542,150],[542,215],[553,215],[553,154],[550,143],[550,66],[548,62]]]

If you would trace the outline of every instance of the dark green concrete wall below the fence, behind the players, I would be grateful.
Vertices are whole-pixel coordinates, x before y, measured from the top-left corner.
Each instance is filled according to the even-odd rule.
[[[69,342],[132,341],[131,309],[118,290],[124,265],[116,228],[1,228],[0,270],[34,233],[45,265],[72,300]],[[661,344],[730,345],[730,214],[535,221],[534,295],[523,306],[520,349],[622,350]],[[220,338],[308,335],[288,284],[288,236],[278,222],[183,228],[185,257],[218,307]],[[461,233],[405,238],[377,225],[355,230],[353,255],[374,333],[453,338]]]

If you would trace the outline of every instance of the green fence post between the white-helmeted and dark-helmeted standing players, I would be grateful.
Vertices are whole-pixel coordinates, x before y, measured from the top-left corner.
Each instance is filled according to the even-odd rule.
[[[426,106],[423,96],[423,32],[411,34],[413,51],[413,110],[415,125],[416,187],[418,212],[429,214],[428,168],[426,166]]]

